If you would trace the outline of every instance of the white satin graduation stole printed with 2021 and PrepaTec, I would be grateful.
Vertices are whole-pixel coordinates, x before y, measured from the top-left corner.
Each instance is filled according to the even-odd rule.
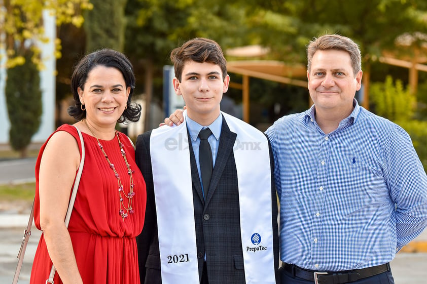
[[[246,284],[275,283],[271,172],[265,135],[223,113],[237,133],[240,231]],[[199,284],[190,151],[185,121],[152,131],[150,154],[163,284]],[[221,138],[220,138],[221,139]],[[258,209],[261,210],[258,210]],[[255,209],[255,210],[254,210]]]

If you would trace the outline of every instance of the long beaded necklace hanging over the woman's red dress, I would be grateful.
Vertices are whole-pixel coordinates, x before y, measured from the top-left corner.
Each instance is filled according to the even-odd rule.
[[[129,163],[127,162],[127,158],[126,158],[126,152],[125,152],[125,150],[123,149],[123,144],[122,144],[122,142],[120,141],[120,138],[119,138],[119,133],[115,130],[114,132],[115,132],[115,134],[116,134],[117,140],[119,141],[120,152],[122,153],[123,159],[124,159],[124,161],[125,161],[125,164],[126,164],[126,167],[127,167],[127,173],[128,173],[128,175],[129,175],[129,180],[130,180],[129,192],[126,194],[126,193],[124,192],[124,190],[123,190],[123,184],[122,184],[122,181],[120,180],[120,176],[119,176],[119,174],[117,173],[116,168],[114,167],[114,164],[113,164],[113,163],[111,163],[111,161],[110,161],[110,159],[109,159],[108,155],[105,153],[104,147],[103,147],[103,146],[102,146],[102,144],[99,142],[98,137],[96,137],[96,135],[95,135],[95,133],[93,133],[92,129],[90,129],[89,125],[87,124],[86,119],[85,119],[85,124],[86,124],[86,127],[89,129],[89,131],[92,133],[92,135],[96,138],[96,141],[98,142],[98,146],[99,146],[99,148],[101,149],[102,153],[104,154],[104,156],[105,156],[105,159],[106,159],[107,163],[110,165],[110,169],[112,169],[112,170],[113,170],[114,175],[115,175],[115,177],[117,178],[117,182],[118,182],[118,185],[119,185],[119,200],[120,200],[120,210],[119,210],[119,215],[122,217],[122,219],[123,219],[123,221],[124,221],[124,220],[125,220],[125,218],[128,216],[128,214],[133,214],[133,213],[134,213],[134,210],[133,210],[133,208],[132,208],[132,199],[133,199],[133,196],[135,195],[135,192],[133,191],[133,189],[134,189],[134,184],[133,184],[133,177],[132,177],[132,174],[133,174],[135,171],[133,171],[133,170],[131,170],[131,169],[130,169],[130,165],[129,165]],[[122,197],[122,192],[123,192],[124,196],[128,199],[128,202],[127,202],[127,208],[126,208],[126,206],[124,205],[124,198]]]

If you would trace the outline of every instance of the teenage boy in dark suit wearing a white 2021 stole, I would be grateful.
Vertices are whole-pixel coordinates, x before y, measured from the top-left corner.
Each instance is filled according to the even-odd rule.
[[[141,282],[275,284],[277,199],[268,139],[220,111],[230,78],[216,42],[191,39],[171,60],[185,120],[136,141],[147,183],[137,237]],[[208,144],[199,132],[207,132]]]

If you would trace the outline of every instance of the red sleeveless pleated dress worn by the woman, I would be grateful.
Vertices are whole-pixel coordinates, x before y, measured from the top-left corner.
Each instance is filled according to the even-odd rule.
[[[62,125],[56,131],[66,131],[72,134],[81,149],[79,135],[73,126]],[[119,215],[117,178],[100,150],[96,138],[85,133],[82,135],[85,143],[85,164],[68,231],[83,283],[140,283],[135,237],[143,229],[147,193],[144,178],[135,164],[135,151],[129,139],[119,133],[128,163],[135,171],[132,174],[135,184],[135,195],[132,201],[134,213],[128,214],[129,216],[123,221]],[[130,181],[117,137],[110,141],[100,140],[100,143],[120,175],[126,194],[129,191]],[[39,171],[40,160],[46,144],[47,141],[40,149],[35,165],[34,223],[39,230]],[[66,150],[64,149],[64,151]],[[61,157],[58,156],[58,158]],[[127,206],[127,202],[125,202],[125,206]],[[32,265],[30,283],[45,283],[51,267],[52,262],[42,234]],[[62,283],[57,272],[54,283]]]

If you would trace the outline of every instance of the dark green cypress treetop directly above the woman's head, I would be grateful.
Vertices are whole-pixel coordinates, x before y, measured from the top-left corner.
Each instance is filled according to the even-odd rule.
[[[123,51],[127,0],[91,0],[93,9],[85,13],[86,52],[100,48]]]

